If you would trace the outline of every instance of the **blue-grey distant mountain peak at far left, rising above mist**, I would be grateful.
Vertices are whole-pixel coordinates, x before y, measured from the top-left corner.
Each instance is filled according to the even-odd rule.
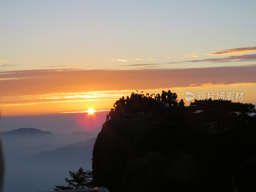
[[[1,132],[2,135],[28,135],[28,134],[40,134],[40,135],[54,135],[49,131],[42,131],[35,128],[20,128],[12,131]]]

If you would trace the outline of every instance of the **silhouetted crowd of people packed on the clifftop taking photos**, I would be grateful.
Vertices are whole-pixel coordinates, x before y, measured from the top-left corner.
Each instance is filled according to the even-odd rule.
[[[111,108],[106,121],[109,120],[109,117],[112,118],[114,113],[122,117],[131,114],[155,118],[164,117],[165,112],[177,107],[184,107],[183,99],[178,103],[177,97],[177,94],[170,90],[162,91],[161,96],[160,94],[155,95],[155,93],[151,95],[147,93],[145,96],[143,92],[141,94],[132,92],[131,97],[127,96],[125,99],[123,96],[114,103],[114,108]]]

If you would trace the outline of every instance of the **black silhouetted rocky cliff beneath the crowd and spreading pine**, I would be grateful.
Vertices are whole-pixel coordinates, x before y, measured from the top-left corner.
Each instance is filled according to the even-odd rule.
[[[120,117],[104,123],[93,148],[94,185],[110,192],[255,188],[255,166],[246,165],[255,153],[254,131],[207,134],[191,122],[188,116],[171,122]]]

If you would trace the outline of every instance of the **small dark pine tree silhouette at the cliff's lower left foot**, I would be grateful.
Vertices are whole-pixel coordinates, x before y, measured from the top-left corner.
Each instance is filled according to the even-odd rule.
[[[72,179],[65,179],[68,183],[68,186],[55,186],[55,191],[60,191],[64,189],[80,189],[92,187],[92,171],[84,171],[84,169],[80,167],[80,169],[78,169],[77,172],[69,171],[69,175]]]

